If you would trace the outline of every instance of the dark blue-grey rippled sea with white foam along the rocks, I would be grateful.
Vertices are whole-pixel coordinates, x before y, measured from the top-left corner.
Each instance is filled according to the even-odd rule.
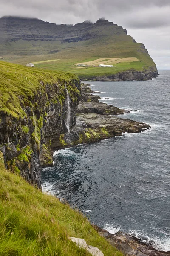
[[[91,145],[60,150],[42,187],[86,212],[111,233],[122,230],[170,250],[170,70],[150,81],[91,82],[121,116],[151,125]],[[138,110],[138,111],[136,111]]]

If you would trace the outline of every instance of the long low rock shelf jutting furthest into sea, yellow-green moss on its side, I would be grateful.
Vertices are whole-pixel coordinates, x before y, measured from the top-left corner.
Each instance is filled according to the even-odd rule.
[[[56,134],[51,137],[51,147],[55,149],[67,148],[82,143],[95,143],[99,140],[122,133],[138,133],[149,129],[150,125],[122,119],[116,116],[105,116],[94,113],[77,114],[77,125],[70,133]]]

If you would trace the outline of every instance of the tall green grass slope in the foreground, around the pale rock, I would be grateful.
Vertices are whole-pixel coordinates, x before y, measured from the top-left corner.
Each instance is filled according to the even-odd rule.
[[[85,239],[105,256],[122,256],[80,212],[7,172],[0,152],[0,255],[91,255],[68,236]]]

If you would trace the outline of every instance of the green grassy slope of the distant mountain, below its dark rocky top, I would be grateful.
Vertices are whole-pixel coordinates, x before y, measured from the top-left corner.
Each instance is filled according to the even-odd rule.
[[[142,71],[155,66],[153,60],[142,48],[142,44],[133,42],[133,38],[116,26],[100,25],[91,28],[94,38],[86,41],[61,43],[61,41],[17,41],[6,44],[4,60],[19,64],[28,62],[49,61],[36,64],[36,67],[62,70],[77,74],[80,78],[110,75],[113,73],[135,69]],[[59,52],[49,54],[57,49]],[[8,54],[10,52],[10,54]],[[115,64],[112,69],[88,67],[76,69],[74,64],[95,60],[97,58],[136,57],[133,63]]]

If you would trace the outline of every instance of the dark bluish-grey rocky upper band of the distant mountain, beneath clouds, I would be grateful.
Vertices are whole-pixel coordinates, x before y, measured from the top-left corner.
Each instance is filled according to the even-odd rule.
[[[112,26],[116,31],[126,34],[122,26],[114,25],[108,20],[98,20],[96,23],[83,22],[74,26],[56,25],[39,19],[23,17],[0,18],[0,41],[40,40],[71,43],[87,41],[94,37],[94,30],[99,26]],[[98,35],[99,37],[99,35]]]

